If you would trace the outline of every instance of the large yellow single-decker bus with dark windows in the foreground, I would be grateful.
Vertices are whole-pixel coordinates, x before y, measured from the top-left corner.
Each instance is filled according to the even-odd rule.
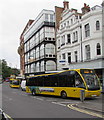
[[[101,94],[100,81],[93,69],[65,70],[31,76],[26,80],[26,92],[32,95],[80,98],[81,90],[85,91],[85,98]]]

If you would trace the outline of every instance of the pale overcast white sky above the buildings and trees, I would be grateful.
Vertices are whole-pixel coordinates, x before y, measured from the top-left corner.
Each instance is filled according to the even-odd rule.
[[[20,68],[17,52],[20,35],[29,19],[35,19],[43,9],[53,10],[63,7],[64,0],[0,0],[0,59],[8,66]],[[84,3],[93,7],[101,5],[102,0],[67,0],[69,8],[81,12]]]

